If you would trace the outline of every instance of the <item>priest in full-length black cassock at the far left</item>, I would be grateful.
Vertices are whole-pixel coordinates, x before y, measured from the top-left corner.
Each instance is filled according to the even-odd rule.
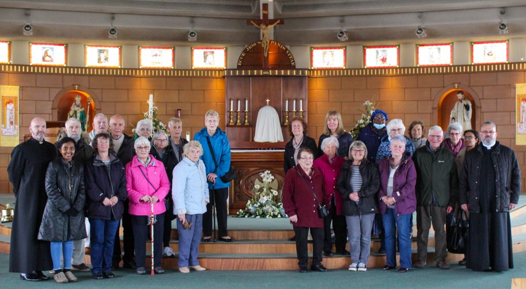
[[[21,273],[22,280],[41,281],[49,280],[42,271],[53,269],[50,243],[37,237],[47,202],[46,170],[56,157],[56,148],[44,141],[46,121],[42,117],[33,118],[29,131],[32,137],[13,149],[7,167],[16,197],[9,272]]]

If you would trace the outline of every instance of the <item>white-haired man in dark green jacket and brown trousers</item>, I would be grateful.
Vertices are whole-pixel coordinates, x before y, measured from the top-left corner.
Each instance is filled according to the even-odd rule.
[[[459,177],[453,153],[444,149],[440,126],[429,128],[428,141],[413,154],[417,171],[417,245],[418,260],[413,267],[423,268],[427,262],[427,247],[431,221],[434,229],[434,260],[441,269],[446,263],[446,214],[453,211],[458,198]]]

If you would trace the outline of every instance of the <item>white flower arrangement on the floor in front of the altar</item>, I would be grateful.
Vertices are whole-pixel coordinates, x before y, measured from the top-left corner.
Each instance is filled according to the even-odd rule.
[[[281,192],[278,192],[278,181],[265,171],[259,174],[262,181],[257,179],[252,187],[254,197],[247,202],[245,210],[237,212],[238,217],[245,218],[281,218],[287,217],[281,203]]]

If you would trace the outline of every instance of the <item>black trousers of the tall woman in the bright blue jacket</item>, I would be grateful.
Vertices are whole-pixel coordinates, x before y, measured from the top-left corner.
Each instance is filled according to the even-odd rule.
[[[216,198],[216,212],[217,212],[217,228],[219,229],[219,237],[228,236],[227,233],[227,198],[228,198],[228,187],[216,188],[216,195],[214,191],[210,191],[210,203],[206,206],[206,213],[203,214],[203,236],[212,236],[212,204],[214,203],[214,197]]]

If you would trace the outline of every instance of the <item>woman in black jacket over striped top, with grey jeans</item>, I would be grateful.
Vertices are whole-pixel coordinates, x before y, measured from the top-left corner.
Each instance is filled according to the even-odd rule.
[[[350,147],[349,161],[343,163],[336,189],[343,199],[342,214],[347,221],[352,264],[350,271],[367,271],[371,252],[371,229],[378,213],[376,193],[380,177],[375,163],[367,161],[367,147],[360,141]]]

